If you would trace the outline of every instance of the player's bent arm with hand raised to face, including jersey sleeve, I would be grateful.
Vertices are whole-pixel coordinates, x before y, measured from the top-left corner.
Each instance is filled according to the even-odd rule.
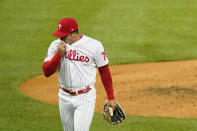
[[[62,55],[65,51],[66,44],[63,41],[61,41],[60,44],[55,45],[55,47],[53,47],[53,45],[49,47],[47,57],[45,58],[45,61],[42,64],[42,69],[46,77],[49,77],[56,72],[60,64]]]

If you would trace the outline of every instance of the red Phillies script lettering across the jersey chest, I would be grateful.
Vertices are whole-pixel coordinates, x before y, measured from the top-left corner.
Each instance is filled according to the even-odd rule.
[[[81,61],[81,62],[89,62],[89,58],[87,56],[79,56],[76,50],[67,51],[65,54],[65,58],[71,61]]]

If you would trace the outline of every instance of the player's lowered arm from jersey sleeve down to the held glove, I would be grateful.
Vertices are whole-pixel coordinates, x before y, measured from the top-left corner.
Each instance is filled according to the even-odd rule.
[[[98,47],[96,54],[96,64],[108,97],[108,100],[104,105],[103,115],[105,119],[108,118],[108,121],[111,124],[118,124],[125,119],[125,114],[120,105],[115,100],[112,76],[108,67],[109,61],[107,55],[104,52],[102,44],[100,44]]]

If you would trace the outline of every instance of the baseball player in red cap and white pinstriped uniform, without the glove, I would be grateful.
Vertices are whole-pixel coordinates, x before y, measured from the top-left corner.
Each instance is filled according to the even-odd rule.
[[[94,114],[98,68],[104,84],[108,107],[117,105],[113,93],[108,58],[100,41],[78,32],[73,18],[59,21],[53,36],[59,37],[48,48],[43,72],[49,77],[58,70],[59,111],[64,131],[88,131]]]

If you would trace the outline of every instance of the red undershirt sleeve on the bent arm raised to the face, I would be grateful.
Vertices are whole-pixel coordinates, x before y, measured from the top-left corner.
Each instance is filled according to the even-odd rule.
[[[58,52],[56,52],[50,61],[46,61],[42,64],[42,70],[46,77],[49,77],[56,72],[60,64],[61,58],[62,56]]]

